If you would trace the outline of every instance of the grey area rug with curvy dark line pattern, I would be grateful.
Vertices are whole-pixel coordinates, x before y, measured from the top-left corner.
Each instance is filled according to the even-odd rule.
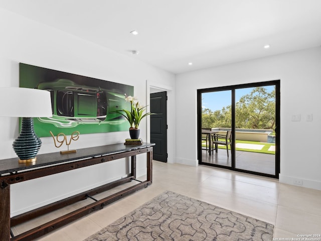
[[[265,241],[272,236],[272,224],[166,191],[84,241]]]

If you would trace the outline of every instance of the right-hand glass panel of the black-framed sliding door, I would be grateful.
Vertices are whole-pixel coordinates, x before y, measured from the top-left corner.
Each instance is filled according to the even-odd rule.
[[[275,175],[275,85],[235,89],[235,168]]]

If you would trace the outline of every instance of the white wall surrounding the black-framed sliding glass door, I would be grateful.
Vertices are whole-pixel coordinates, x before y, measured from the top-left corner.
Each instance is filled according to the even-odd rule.
[[[178,162],[198,163],[197,89],[275,79],[281,85],[280,182],[293,184],[301,179],[303,186],[321,190],[320,47],[177,75]],[[291,122],[296,113],[301,121]],[[306,122],[310,113],[313,121]]]

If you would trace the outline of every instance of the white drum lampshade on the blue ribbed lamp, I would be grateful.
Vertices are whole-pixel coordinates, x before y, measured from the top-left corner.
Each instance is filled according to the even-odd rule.
[[[0,88],[0,116],[50,117],[50,92],[19,87]]]

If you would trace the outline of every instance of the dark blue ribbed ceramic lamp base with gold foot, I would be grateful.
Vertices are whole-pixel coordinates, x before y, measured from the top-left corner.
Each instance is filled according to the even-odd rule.
[[[32,117],[23,117],[21,133],[12,144],[19,163],[31,163],[36,161],[36,155],[41,147],[41,140],[34,131],[34,120]]]

